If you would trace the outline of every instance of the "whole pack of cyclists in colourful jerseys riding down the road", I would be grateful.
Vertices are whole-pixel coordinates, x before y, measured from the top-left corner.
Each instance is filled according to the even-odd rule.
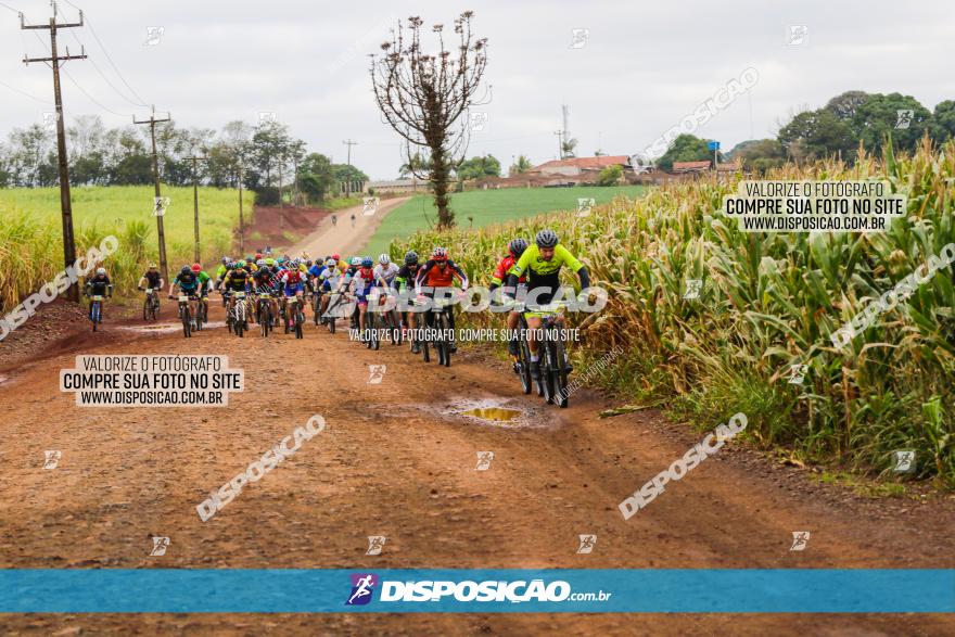
[[[502,293],[514,300],[520,290],[525,294],[537,290],[538,306],[546,306],[559,288],[558,279],[563,267],[577,275],[582,288],[589,286],[587,269],[560,244],[552,230],[539,231],[533,242],[514,238],[508,245],[508,254],[499,260],[492,273],[491,291],[502,288]],[[156,264],[150,265],[139,284],[140,290],[148,291],[157,306],[157,292],[162,290],[164,281]],[[464,270],[449,258],[447,249],[441,246],[435,247],[423,263],[418,253],[409,251],[404,255],[400,265],[393,263],[387,254],[379,255],[375,262],[370,256],[353,256],[343,260],[338,253],[315,260],[306,254],[301,258],[289,255],[273,258],[268,253],[258,253],[239,259],[224,256],[214,276],[205,272],[201,264],[183,265],[169,282],[168,297],[175,298],[174,293],[178,292],[180,316],[183,297],[196,303],[198,311],[191,315],[192,320],[202,323],[208,320],[208,296],[213,291],[218,291],[224,296],[230,317],[233,316],[237,303],[245,303],[249,311],[242,313],[243,321],[253,323],[268,317],[272,322],[271,327],[279,327],[280,321],[284,320],[286,332],[296,320],[295,313],[290,310],[290,304],[297,304],[296,311],[300,311],[306,303],[310,303],[316,324],[327,324],[328,321],[335,320],[333,317],[338,313],[336,306],[342,301],[349,301],[354,302],[354,311],[342,318],[351,318],[351,327],[358,330],[359,339],[364,339],[369,324],[370,301],[403,292],[405,295],[415,295],[418,298],[429,296],[433,300],[442,289],[459,288],[460,293],[463,293],[468,291],[469,284]],[[112,285],[103,268],[86,285],[88,294],[103,294],[105,291],[112,293]],[[542,288],[548,290],[539,290]],[[332,300],[335,302],[334,307],[331,306]],[[264,313],[266,306],[269,311]],[[523,333],[519,332],[519,328],[526,328],[530,378],[539,379],[540,353],[535,334],[539,333],[537,330],[545,319],[560,323],[562,316],[559,311],[542,311],[539,307],[517,307],[519,309],[508,313],[508,333]],[[396,316],[400,316],[400,324],[394,327],[402,331],[431,327],[420,324],[421,316],[413,311],[402,311]],[[424,314],[424,322],[430,317],[430,313]],[[447,311],[447,319],[449,331],[454,334],[453,309]],[[194,329],[201,329],[201,326],[195,324]],[[267,335],[267,332],[264,333]],[[523,346],[524,343],[513,336],[508,343],[508,352],[518,360]],[[449,347],[450,352],[457,349],[454,340]],[[420,353],[421,343],[412,340],[411,351]]]

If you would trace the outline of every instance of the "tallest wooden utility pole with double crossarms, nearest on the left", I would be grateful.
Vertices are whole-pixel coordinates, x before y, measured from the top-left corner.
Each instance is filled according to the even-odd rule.
[[[56,22],[56,3],[52,2],[53,17],[49,24],[28,25],[23,21],[23,13],[20,14],[21,29],[50,29],[50,56],[49,58],[27,58],[23,56],[23,63],[47,62],[53,69],[53,101],[56,104],[56,155],[60,168],[60,214],[63,219],[63,259],[66,267],[72,267],[76,263],[76,240],[73,237],[73,202],[69,198],[69,166],[66,161],[66,131],[63,125],[63,94],[60,90],[60,63],[67,60],[85,60],[86,51],[80,48],[79,55],[71,55],[69,47],[66,48],[66,55],[60,55],[56,51],[56,30],[61,28],[74,28],[82,26],[82,11],[79,12],[79,22],[76,23],[58,23]],[[66,297],[74,303],[79,302],[79,286],[74,283],[66,292]]]

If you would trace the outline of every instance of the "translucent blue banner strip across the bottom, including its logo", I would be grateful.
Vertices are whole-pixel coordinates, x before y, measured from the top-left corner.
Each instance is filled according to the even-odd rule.
[[[952,613],[955,570],[7,569],[4,613]]]

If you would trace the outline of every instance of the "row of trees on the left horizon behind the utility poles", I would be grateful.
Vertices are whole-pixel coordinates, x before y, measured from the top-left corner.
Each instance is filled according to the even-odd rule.
[[[69,177],[74,186],[138,186],[153,182],[149,129],[141,126],[107,128],[97,115],[76,117],[66,127]],[[230,122],[221,128],[180,127],[175,122],[156,125],[160,179],[169,186],[193,180],[193,155],[206,160],[196,166],[204,186],[242,186],[259,203],[278,203],[280,192],[298,195],[303,203],[319,204],[339,194],[341,184],[364,182],[368,176],[352,165],[333,164],[321,153],[308,153],[286,125],[263,122],[252,126]],[[13,129],[0,142],[0,188],[56,186],[56,133],[34,124]],[[352,189],[354,190],[354,189]]]

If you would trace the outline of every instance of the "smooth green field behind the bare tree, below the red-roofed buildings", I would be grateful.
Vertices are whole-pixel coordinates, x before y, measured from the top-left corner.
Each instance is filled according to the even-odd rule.
[[[552,211],[574,211],[578,198],[593,198],[597,204],[603,204],[616,196],[637,198],[644,191],[642,186],[471,190],[451,195],[451,211],[459,228],[483,228]],[[387,252],[393,239],[404,239],[429,229],[436,220],[437,209],[433,199],[417,195],[382,220],[365,252]]]

